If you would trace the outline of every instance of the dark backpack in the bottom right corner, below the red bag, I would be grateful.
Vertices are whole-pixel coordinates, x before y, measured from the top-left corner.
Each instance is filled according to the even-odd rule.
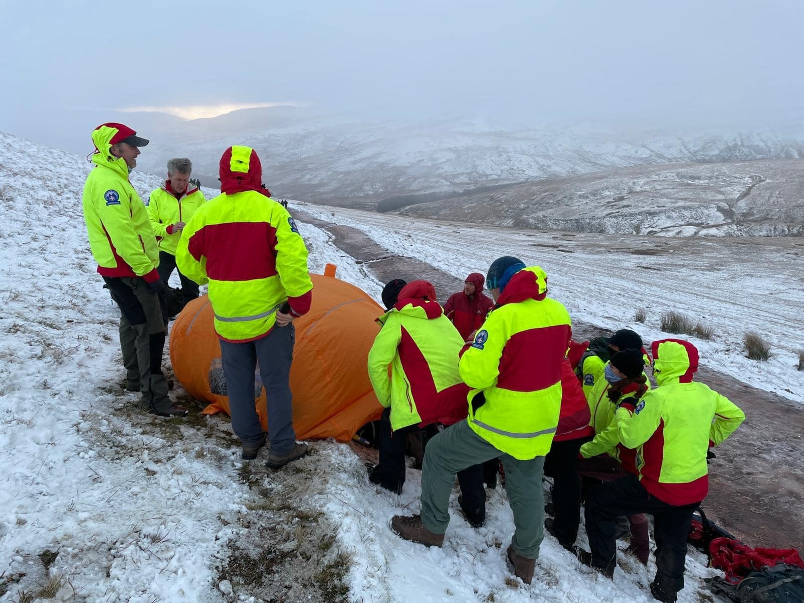
[[[751,572],[739,584],[723,578],[704,580],[712,593],[720,593],[736,603],[802,603],[804,601],[804,569],[790,564],[777,564]]]

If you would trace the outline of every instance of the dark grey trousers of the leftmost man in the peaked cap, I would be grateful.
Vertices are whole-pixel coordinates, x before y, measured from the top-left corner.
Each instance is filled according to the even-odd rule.
[[[159,298],[142,278],[104,277],[104,281],[120,306],[120,349],[126,386],[139,390],[143,410],[166,411],[173,402],[162,373],[165,323]]]

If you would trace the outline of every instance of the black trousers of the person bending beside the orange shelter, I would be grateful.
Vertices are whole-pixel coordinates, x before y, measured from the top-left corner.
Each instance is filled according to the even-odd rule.
[[[379,419],[379,465],[374,470],[375,478],[396,490],[404,484],[404,453],[408,443],[408,434],[417,433],[418,425],[408,425],[402,429],[391,431],[391,408],[385,408]],[[458,485],[461,486],[464,507],[469,509],[486,508],[486,490],[483,488],[482,465],[473,465],[457,474]]]

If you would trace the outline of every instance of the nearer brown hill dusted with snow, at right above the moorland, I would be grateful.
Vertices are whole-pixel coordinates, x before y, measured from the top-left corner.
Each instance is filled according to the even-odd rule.
[[[404,215],[575,232],[674,236],[804,234],[804,162],[638,166],[496,187]]]

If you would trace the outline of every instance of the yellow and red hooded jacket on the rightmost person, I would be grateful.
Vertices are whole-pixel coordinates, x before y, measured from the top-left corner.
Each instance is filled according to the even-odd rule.
[[[622,445],[637,449],[642,486],[671,505],[699,503],[709,489],[707,451],[719,445],[745,414],[728,398],[692,381],[698,350],[680,339],[653,343],[658,387],[642,400],[624,400],[617,412]]]

